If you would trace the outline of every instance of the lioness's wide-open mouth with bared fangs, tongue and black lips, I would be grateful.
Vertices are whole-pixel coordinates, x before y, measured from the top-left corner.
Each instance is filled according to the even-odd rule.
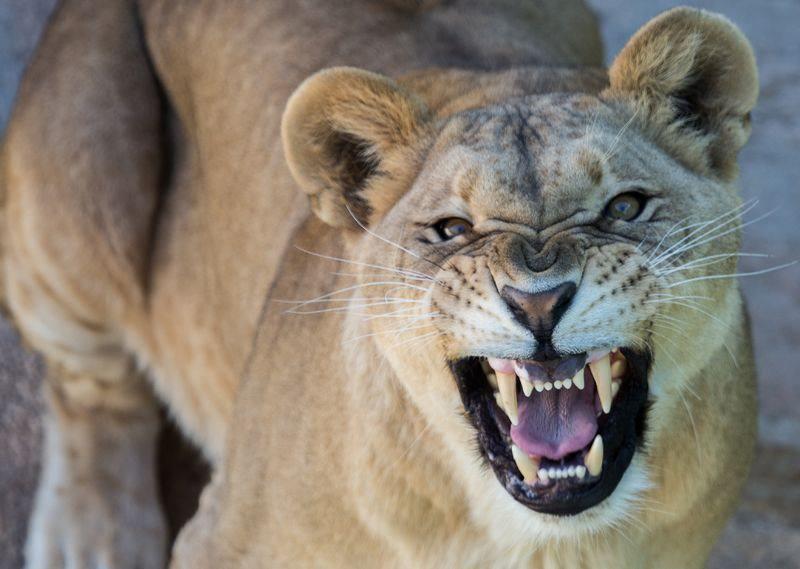
[[[453,362],[464,408],[498,480],[537,512],[607,498],[642,441],[650,355],[626,348],[553,360]]]

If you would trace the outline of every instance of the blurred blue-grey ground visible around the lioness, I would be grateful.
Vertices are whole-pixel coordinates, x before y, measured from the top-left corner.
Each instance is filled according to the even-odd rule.
[[[53,0],[0,0],[0,129],[24,62]],[[607,52],[616,53],[649,17],[672,2],[594,0]],[[774,212],[746,230],[744,250],[774,259],[742,262],[757,271],[800,258],[800,2],[708,0],[695,5],[737,22],[755,47],[761,99],[753,137],[742,154],[741,186],[758,199],[749,216]],[[610,58],[610,56],[609,56]],[[743,280],[753,316],[761,380],[759,455],[742,505],[710,563],[713,569],[800,568],[800,266]],[[23,352],[0,320],[0,569],[21,566],[21,544],[39,464],[42,366]],[[167,438],[174,441],[175,435]],[[187,514],[185,496],[202,474],[195,457],[167,443],[163,462],[173,480],[165,499]],[[177,453],[177,456],[176,456]],[[678,465],[679,467],[679,465]],[[174,473],[190,470],[191,483]],[[175,480],[177,479],[177,482]],[[190,507],[190,506],[189,506]]]

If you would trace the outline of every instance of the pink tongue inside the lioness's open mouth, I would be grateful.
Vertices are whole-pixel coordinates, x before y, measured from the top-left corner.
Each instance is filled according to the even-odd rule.
[[[580,390],[552,389],[520,394],[519,424],[511,440],[528,454],[559,460],[587,446],[597,434],[594,381]]]

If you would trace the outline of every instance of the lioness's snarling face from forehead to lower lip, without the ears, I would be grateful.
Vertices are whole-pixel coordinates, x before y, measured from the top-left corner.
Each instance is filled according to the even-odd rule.
[[[357,247],[401,271],[370,308],[400,380],[431,421],[458,419],[460,399],[497,478],[539,512],[577,514],[614,492],[644,452],[648,401],[691,388],[651,370],[702,360],[682,346],[714,333],[698,310],[720,311],[731,286],[684,281],[735,265],[734,193],[630,118],[586,95],[452,117],[374,226],[386,241]]]

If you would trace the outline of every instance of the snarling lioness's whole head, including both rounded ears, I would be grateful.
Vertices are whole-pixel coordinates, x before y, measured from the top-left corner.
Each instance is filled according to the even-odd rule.
[[[364,336],[480,508],[502,500],[485,461],[529,516],[618,521],[649,483],[667,410],[721,346],[755,71],[730,23],[671,14],[637,34],[600,94],[437,118],[344,70],[290,102],[295,176],[320,217],[361,232]],[[722,77],[732,63],[745,72]]]

